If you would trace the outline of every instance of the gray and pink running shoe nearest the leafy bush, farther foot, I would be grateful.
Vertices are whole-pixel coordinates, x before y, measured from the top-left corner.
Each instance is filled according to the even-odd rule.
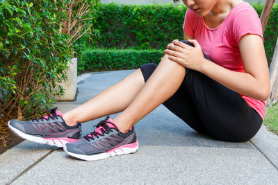
[[[66,143],[79,141],[81,124],[76,122],[72,127],[66,125],[62,118],[63,114],[56,109],[57,107],[50,109],[47,111],[49,112],[47,116],[31,121],[13,119],[8,122],[8,127],[23,139],[50,146],[63,147]]]

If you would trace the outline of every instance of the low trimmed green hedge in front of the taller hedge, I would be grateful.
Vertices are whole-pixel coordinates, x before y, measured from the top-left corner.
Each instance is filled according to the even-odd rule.
[[[92,49],[82,53],[79,58],[79,73],[86,71],[108,71],[136,69],[140,64],[160,62],[163,51],[103,50]]]

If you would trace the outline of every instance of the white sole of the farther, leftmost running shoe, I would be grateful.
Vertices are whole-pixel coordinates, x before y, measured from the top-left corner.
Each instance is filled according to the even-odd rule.
[[[59,138],[59,139],[57,139],[57,138],[44,139],[44,138],[39,137],[39,136],[33,136],[33,135],[30,135],[30,134],[25,134],[24,132],[21,132],[17,128],[11,126],[10,125],[10,121],[8,122],[8,127],[17,136],[20,136],[23,139],[27,139],[28,141],[33,141],[35,143],[47,144],[49,146],[57,146],[59,148],[64,147],[65,144],[68,143],[68,141],[65,141],[65,139],[63,139],[63,138]],[[76,141],[78,141],[78,140],[76,140]]]

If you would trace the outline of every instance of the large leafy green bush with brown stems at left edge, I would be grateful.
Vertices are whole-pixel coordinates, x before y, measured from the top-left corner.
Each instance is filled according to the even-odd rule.
[[[70,60],[62,3],[51,0],[0,1],[0,121],[28,118],[63,92]],[[59,8],[58,8],[59,7]],[[58,10],[59,9],[59,10]]]

